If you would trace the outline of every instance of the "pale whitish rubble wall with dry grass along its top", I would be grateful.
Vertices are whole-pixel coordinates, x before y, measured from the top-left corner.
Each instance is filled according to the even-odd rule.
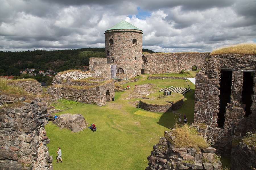
[[[73,80],[79,80],[79,79],[85,79],[88,77],[93,77],[93,73],[91,72],[80,72],[80,71],[70,71],[67,73],[63,74],[57,74],[56,76],[53,77],[52,79],[52,84],[59,84],[61,85],[63,82],[69,79]]]

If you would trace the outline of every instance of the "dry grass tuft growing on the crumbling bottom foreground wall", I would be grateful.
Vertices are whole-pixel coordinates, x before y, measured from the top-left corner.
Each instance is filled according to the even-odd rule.
[[[173,145],[176,148],[196,148],[203,149],[207,148],[209,144],[201,137],[197,135],[197,129],[189,127],[189,125],[184,124],[183,126],[175,125],[176,130],[172,132],[175,136],[173,140]]]

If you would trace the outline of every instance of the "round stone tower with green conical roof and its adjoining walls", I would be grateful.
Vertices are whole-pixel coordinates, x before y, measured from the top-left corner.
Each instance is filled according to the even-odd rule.
[[[105,31],[106,58],[90,58],[89,70],[106,79],[128,79],[144,73],[200,69],[210,53],[142,55],[142,30],[122,20]]]

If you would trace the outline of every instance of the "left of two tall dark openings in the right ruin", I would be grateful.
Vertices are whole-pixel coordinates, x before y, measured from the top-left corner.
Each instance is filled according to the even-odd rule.
[[[230,103],[231,95],[231,85],[232,85],[232,70],[221,70],[220,78],[220,108],[218,113],[218,126],[223,127],[225,122],[224,113],[226,111],[226,106]]]

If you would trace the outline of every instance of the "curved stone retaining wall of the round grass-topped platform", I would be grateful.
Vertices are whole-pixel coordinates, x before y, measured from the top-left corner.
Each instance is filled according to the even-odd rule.
[[[148,104],[141,101],[141,109],[144,109],[146,111],[150,112],[170,112],[176,109],[181,108],[183,105],[183,99],[177,101],[176,103],[167,103],[166,105],[154,105],[154,104]]]

